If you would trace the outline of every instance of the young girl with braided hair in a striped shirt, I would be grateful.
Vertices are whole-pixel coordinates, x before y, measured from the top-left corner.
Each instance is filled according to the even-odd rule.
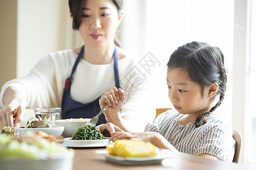
[[[113,141],[142,140],[159,148],[232,162],[236,145],[232,129],[214,114],[226,91],[221,50],[207,43],[191,42],[177,48],[167,66],[168,95],[175,109],[160,114],[144,133],[125,132],[113,124],[102,125],[100,130],[110,131]],[[100,104],[111,105],[113,96],[119,99],[123,95],[121,90],[114,94],[117,95],[103,95]]]

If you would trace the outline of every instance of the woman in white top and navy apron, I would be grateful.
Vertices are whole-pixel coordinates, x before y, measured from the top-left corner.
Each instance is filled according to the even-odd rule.
[[[5,126],[18,127],[26,107],[62,106],[63,118],[92,118],[100,111],[100,96],[115,86],[129,91],[117,124],[142,130],[154,118],[152,114],[144,117],[140,111],[145,108],[142,96],[148,89],[146,80],[134,86],[134,77],[127,75],[136,63],[114,44],[123,17],[122,1],[69,0],[69,7],[73,29],[78,29],[84,46],[51,53],[29,75],[2,87],[1,116]],[[102,114],[97,125],[106,122]],[[115,120],[110,122],[115,124]]]

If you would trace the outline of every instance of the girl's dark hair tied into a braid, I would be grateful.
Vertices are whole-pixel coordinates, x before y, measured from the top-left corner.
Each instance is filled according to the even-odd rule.
[[[192,82],[201,87],[203,96],[204,88],[213,83],[218,83],[220,95],[218,103],[210,109],[213,112],[220,106],[226,91],[226,67],[224,54],[220,48],[212,47],[204,42],[190,42],[177,48],[167,63],[168,69],[181,68],[188,72]],[[196,128],[207,122],[205,114],[196,118]]]

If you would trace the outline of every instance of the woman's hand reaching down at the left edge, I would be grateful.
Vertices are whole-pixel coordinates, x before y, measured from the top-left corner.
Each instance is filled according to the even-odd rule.
[[[15,87],[8,87],[2,98],[3,108],[0,116],[5,126],[19,127],[25,112],[25,104],[22,94]]]

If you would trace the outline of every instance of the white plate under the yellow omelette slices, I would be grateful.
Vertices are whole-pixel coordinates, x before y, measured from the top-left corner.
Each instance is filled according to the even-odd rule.
[[[161,164],[162,160],[168,158],[161,149],[158,156],[149,157],[121,157],[114,155],[105,155],[106,160],[122,165],[148,165],[148,164]]]

